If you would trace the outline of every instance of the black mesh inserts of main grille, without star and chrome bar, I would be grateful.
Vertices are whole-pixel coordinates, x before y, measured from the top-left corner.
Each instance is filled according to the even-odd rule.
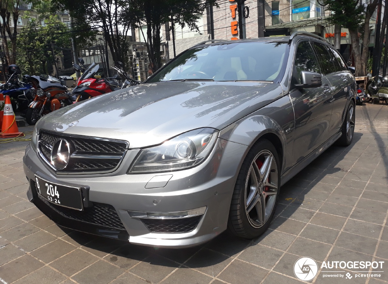
[[[100,139],[80,138],[73,136],[66,136],[62,134],[54,134],[46,131],[40,131],[39,140],[43,140],[46,144],[52,146],[54,142],[64,138],[73,143],[75,151],[85,155],[117,155],[118,158],[75,158],[70,157],[69,164],[64,172],[76,171],[110,171],[115,169],[121,161],[121,155],[124,154],[126,143],[118,141],[104,141]],[[39,150],[50,161],[50,151],[39,144]],[[119,155],[118,155],[119,154]],[[60,171],[59,171],[60,172]]]

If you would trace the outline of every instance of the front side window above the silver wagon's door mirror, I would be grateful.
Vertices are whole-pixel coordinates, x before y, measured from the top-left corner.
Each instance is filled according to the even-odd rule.
[[[296,49],[293,75],[295,84],[302,83],[300,72],[303,70],[320,73],[317,59],[308,41],[302,41]]]

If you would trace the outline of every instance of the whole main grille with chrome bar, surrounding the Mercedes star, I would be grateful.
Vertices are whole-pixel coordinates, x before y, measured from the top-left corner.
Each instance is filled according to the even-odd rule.
[[[69,162],[62,170],[57,170],[51,165],[51,149],[58,139],[63,138],[71,144],[73,153],[70,153]],[[124,141],[103,138],[90,138],[66,134],[40,131],[38,135],[38,149],[40,157],[50,165],[57,174],[84,172],[111,172],[121,162],[127,148]]]

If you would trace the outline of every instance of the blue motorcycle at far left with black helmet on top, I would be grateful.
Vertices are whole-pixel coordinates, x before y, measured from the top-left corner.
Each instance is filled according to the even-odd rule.
[[[9,65],[8,73],[10,77],[0,86],[0,93],[9,95],[14,111],[24,116],[29,103],[33,100],[35,89],[30,83],[24,81],[24,77],[28,75],[24,75],[23,81],[19,81],[18,75],[21,74],[21,70],[17,65]]]

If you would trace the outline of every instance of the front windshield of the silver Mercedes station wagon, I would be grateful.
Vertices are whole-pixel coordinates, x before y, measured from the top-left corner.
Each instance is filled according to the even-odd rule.
[[[192,48],[157,72],[161,81],[274,81],[281,73],[287,42],[236,42]]]

